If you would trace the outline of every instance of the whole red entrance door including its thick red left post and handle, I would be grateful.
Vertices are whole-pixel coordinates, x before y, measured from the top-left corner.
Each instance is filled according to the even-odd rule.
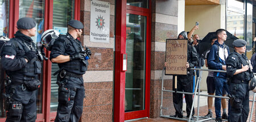
[[[114,121],[150,116],[150,3],[116,2]]]

